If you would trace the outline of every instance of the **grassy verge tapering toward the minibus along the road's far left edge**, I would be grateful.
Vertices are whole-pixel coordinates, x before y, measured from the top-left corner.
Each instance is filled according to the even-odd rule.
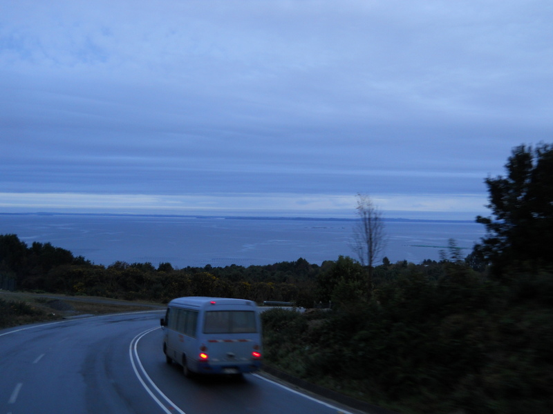
[[[0,329],[82,315],[107,315],[162,309],[162,304],[105,297],[0,291]]]

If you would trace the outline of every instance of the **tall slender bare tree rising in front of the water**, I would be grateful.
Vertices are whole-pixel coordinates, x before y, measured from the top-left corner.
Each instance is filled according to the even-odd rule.
[[[353,251],[362,266],[367,268],[368,297],[373,292],[373,270],[375,261],[384,248],[384,220],[371,197],[357,194],[357,217],[353,228]]]

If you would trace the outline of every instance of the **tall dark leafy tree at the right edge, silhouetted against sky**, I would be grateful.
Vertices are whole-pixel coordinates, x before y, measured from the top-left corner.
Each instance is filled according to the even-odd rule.
[[[505,169],[505,177],[485,181],[493,217],[477,217],[487,237],[475,253],[491,277],[507,282],[518,271],[553,267],[553,145],[518,146]]]

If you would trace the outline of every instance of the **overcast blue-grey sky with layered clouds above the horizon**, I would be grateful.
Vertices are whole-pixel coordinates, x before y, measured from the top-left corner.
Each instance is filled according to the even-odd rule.
[[[489,214],[553,2],[0,2],[0,213]]]

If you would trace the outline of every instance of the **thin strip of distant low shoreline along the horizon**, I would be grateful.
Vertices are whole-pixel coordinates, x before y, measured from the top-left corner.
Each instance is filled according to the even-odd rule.
[[[53,213],[37,211],[35,213],[0,213],[0,215],[17,216],[84,216],[84,217],[158,217],[158,218],[182,218],[182,219],[227,219],[227,220],[280,220],[280,221],[358,221],[358,219],[346,219],[337,217],[281,217],[281,216],[229,216],[229,215],[177,215],[177,214],[147,214],[147,213]],[[401,217],[386,218],[384,222],[400,223],[474,223],[474,220],[453,219],[404,219]]]

